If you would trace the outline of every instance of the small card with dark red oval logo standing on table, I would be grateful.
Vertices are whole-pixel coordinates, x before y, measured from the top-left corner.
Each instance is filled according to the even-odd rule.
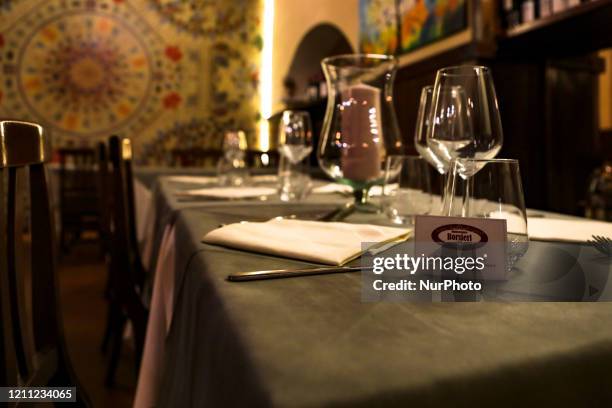
[[[452,270],[442,268],[445,277],[468,271],[478,279],[504,280],[506,232],[503,219],[417,215],[415,256],[439,257],[442,264],[453,260]]]

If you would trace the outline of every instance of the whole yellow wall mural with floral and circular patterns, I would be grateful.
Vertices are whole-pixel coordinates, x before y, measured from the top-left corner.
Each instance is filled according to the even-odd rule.
[[[4,0],[0,115],[54,146],[134,140],[141,162],[255,136],[261,0]]]

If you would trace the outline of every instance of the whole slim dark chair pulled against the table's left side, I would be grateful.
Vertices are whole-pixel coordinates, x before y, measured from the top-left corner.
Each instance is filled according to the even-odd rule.
[[[111,355],[106,383],[114,383],[115,371],[126,322],[132,325],[136,370],[140,367],[148,310],[141,298],[145,271],[136,239],[132,146],[129,139],[112,136],[109,140],[112,164],[112,245],[110,265],[109,333]]]

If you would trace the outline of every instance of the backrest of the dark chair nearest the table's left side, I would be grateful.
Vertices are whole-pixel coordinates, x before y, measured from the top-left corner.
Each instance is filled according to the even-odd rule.
[[[136,238],[130,139],[111,136],[109,157],[113,196],[110,290],[132,322],[139,355],[144,344],[147,311],[140,297],[145,271]]]

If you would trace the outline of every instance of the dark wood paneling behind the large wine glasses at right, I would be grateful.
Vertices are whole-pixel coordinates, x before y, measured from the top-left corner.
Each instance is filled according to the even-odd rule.
[[[468,44],[404,66],[395,106],[407,152],[420,90],[437,69],[457,64],[491,67],[504,126],[498,157],[520,160],[527,205],[582,214],[589,174],[604,159],[597,115],[594,54],[612,46],[612,1],[600,0],[509,32],[494,44]]]

